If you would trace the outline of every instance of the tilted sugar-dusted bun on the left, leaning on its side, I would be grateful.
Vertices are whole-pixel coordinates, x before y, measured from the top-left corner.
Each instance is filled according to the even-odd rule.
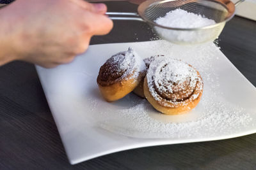
[[[145,76],[145,63],[129,48],[108,59],[100,67],[97,84],[104,99],[116,101],[131,92]]]

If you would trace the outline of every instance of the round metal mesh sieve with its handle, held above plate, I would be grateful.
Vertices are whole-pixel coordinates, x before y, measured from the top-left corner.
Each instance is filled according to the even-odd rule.
[[[239,3],[229,0],[147,0],[140,4],[138,13],[108,12],[112,20],[138,20],[147,22],[160,38],[177,44],[195,44],[214,41],[225,23],[234,17]],[[156,19],[177,8],[202,15],[216,22],[213,25],[195,28],[166,27],[156,23]]]

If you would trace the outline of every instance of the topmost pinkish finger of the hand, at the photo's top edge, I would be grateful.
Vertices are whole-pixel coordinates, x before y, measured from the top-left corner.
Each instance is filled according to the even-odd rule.
[[[93,13],[99,13],[99,14],[104,14],[107,11],[107,6],[106,4],[102,3],[87,3],[86,1],[83,0],[70,0],[73,3],[76,3],[78,6],[81,6],[84,8],[84,10],[91,11]]]

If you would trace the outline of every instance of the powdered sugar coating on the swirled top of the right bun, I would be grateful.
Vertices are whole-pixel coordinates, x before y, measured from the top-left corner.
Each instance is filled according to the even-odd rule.
[[[184,105],[183,99],[194,100],[199,93],[193,94],[198,83],[202,91],[202,80],[196,70],[181,60],[172,59],[170,56],[158,57],[148,69],[147,83],[150,94],[157,101],[166,104]],[[177,93],[177,94],[175,94]],[[164,105],[165,106],[165,105]],[[166,105],[167,106],[167,105]]]

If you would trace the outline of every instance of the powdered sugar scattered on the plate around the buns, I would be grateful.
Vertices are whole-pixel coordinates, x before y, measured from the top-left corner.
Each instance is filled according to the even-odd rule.
[[[219,58],[222,54],[213,43],[178,46],[163,40],[151,41],[143,43],[143,51],[136,51],[140,55],[146,53],[141,57],[161,54],[194,66],[204,80],[200,103],[189,113],[172,116],[159,113],[147,100],[132,93],[111,104],[100,101],[99,94],[90,104],[97,126],[134,138],[202,139],[236,134],[252,125],[255,110],[250,112],[239,104],[232,104],[228,102],[230,97],[222,94],[223,80],[219,77],[222,72],[216,70],[226,61]],[[104,111],[99,111],[99,107]]]

